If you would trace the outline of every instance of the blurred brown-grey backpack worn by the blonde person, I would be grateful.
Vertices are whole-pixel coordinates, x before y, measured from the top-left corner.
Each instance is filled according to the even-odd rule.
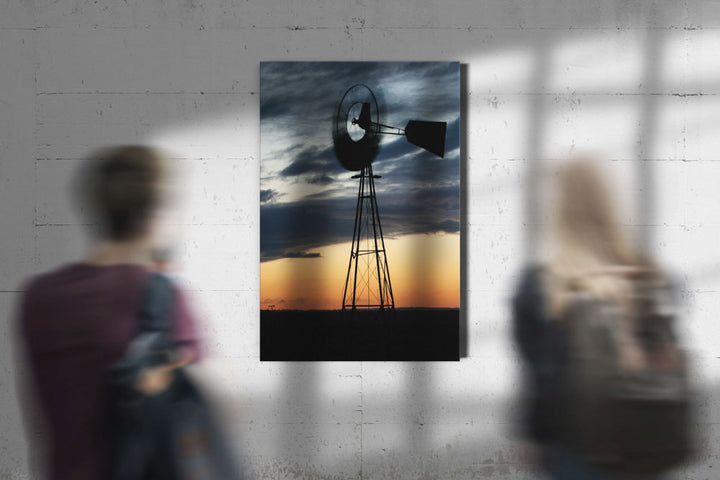
[[[630,283],[622,305],[571,294],[563,430],[589,464],[653,475],[691,452],[688,371],[667,284]]]

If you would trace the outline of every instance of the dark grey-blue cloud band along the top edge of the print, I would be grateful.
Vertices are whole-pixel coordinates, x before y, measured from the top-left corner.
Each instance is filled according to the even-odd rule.
[[[378,98],[383,118],[398,124],[393,126],[450,120],[459,111],[458,68],[452,62],[262,63],[260,118],[306,144],[331,138],[338,101],[349,87],[364,83]]]

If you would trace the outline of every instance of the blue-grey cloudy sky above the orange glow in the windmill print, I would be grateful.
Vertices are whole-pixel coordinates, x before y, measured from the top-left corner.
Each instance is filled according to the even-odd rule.
[[[332,123],[337,101],[356,83],[373,90],[383,123],[404,128],[408,120],[448,122],[445,158],[404,137],[381,146],[373,163],[386,237],[459,231],[459,71],[442,62],[270,62],[260,66],[261,135],[282,136],[273,159],[289,161],[277,177],[312,195],[296,202],[268,197],[261,215],[262,261],[312,256],[313,249],[352,239],[357,180],[335,157]],[[317,193],[317,186],[325,186]],[[265,190],[264,190],[265,191]],[[262,193],[261,193],[262,195]],[[273,201],[271,201],[273,200]]]

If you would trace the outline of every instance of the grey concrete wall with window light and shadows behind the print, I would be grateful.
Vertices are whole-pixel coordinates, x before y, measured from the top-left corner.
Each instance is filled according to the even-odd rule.
[[[198,370],[255,478],[530,478],[507,300],[538,250],[538,166],[586,149],[613,160],[623,221],[682,279],[705,448],[679,478],[716,478],[718,26],[720,2],[691,0],[0,1],[0,478],[30,475],[19,285],[83,254],[68,180],[127,142],[186,157]],[[258,361],[261,60],[466,65],[462,361]]]

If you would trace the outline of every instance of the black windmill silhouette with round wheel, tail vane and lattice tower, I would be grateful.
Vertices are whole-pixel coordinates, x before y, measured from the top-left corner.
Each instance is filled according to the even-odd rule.
[[[347,170],[359,171],[355,223],[345,276],[342,309],[395,310],[390,268],[375,194],[372,162],[381,135],[405,136],[408,142],[444,157],[446,122],[410,120],[405,128],[380,122],[378,101],[365,84],[348,88],[340,98],[333,125],[335,155]]]

